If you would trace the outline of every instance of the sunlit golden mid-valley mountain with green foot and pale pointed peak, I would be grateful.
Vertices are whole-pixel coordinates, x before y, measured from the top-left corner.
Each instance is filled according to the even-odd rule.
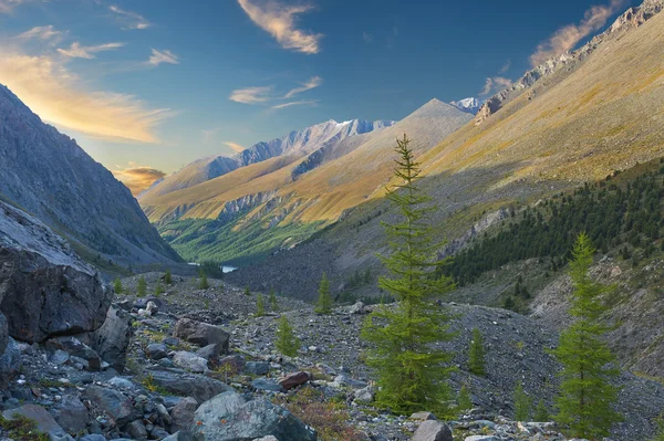
[[[380,130],[334,123],[339,136],[313,151],[291,147],[284,155],[194,187],[146,195],[141,204],[186,259],[250,262],[293,246],[380,196],[392,175],[395,139],[404,133],[413,134],[413,147],[423,154],[471,119],[433,99]]]

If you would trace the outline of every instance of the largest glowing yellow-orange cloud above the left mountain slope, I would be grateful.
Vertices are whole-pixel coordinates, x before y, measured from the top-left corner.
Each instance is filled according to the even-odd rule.
[[[173,115],[132,95],[85,90],[48,55],[0,51],[0,77],[42,119],[91,136],[155,143],[155,126]]]

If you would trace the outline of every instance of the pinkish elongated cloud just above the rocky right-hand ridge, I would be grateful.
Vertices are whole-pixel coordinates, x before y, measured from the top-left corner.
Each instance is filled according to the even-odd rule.
[[[581,40],[606,24],[606,20],[618,12],[624,2],[624,0],[611,0],[608,6],[591,7],[579,24],[568,24],[556,31],[549,40],[540,43],[536,52],[530,55],[530,64],[533,67],[538,66],[551,57],[560,56],[574,49]]]

